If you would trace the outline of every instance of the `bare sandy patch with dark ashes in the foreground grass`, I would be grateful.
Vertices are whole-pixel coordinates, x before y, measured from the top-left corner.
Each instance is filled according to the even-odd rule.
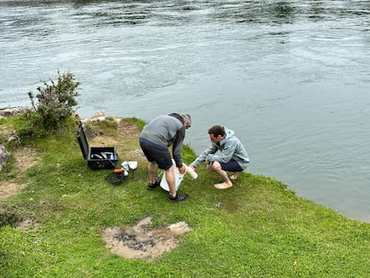
[[[179,245],[178,236],[189,232],[187,223],[174,223],[168,227],[149,229],[150,217],[132,228],[106,228],[103,233],[106,247],[121,257],[155,259]]]

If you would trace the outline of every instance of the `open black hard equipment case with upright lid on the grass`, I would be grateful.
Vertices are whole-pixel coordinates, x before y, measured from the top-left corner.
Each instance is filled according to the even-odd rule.
[[[88,167],[91,169],[113,169],[117,165],[119,157],[115,147],[88,147],[88,140],[81,122],[79,131],[77,131],[77,139],[82,156],[88,160]]]

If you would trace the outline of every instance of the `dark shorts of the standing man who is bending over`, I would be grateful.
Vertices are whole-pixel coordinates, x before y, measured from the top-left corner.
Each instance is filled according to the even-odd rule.
[[[158,168],[163,170],[167,170],[172,166],[168,147],[157,145],[144,138],[139,138],[139,143],[144,155],[147,156],[147,161],[156,162]]]

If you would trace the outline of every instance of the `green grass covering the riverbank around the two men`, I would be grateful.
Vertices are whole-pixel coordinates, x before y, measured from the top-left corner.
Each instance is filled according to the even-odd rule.
[[[124,121],[143,125],[138,119]],[[17,124],[1,119],[0,131]],[[90,170],[82,158],[75,122],[46,139],[13,144],[12,152],[32,147],[39,160],[17,172],[13,157],[0,172],[0,186],[27,184],[0,202],[0,276],[370,276],[369,224],[250,173],[240,174],[230,190],[214,190],[219,179],[204,166],[198,167],[198,180],[185,175],[181,183],[189,200],[170,203],[163,190],[147,191],[146,162],[132,152],[139,149],[137,137],[122,137],[113,119],[91,126],[116,139],[121,161],[138,160],[138,170],[122,185],[107,183],[112,170]],[[183,157],[189,163],[196,155],[184,147]],[[105,248],[106,227],[132,226],[147,216],[154,227],[184,221],[192,231],[181,236],[177,249],[152,261],[119,257]],[[32,229],[17,229],[22,219],[30,219]]]

